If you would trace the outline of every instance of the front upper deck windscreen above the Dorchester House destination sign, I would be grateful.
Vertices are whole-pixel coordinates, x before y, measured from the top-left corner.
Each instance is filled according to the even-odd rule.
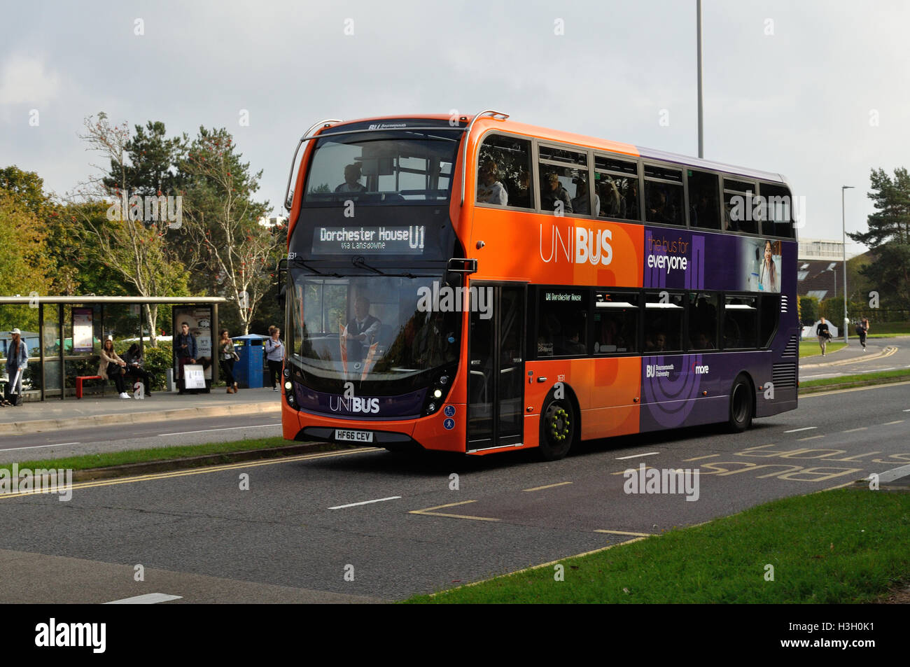
[[[446,202],[460,136],[441,128],[324,136],[310,160],[303,204]]]

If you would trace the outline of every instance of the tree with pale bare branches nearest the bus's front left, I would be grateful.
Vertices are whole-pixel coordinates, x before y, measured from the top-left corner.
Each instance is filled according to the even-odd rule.
[[[240,158],[227,129],[199,127],[180,174],[187,234],[200,251],[193,261],[207,268],[211,288],[234,305],[247,334],[268,290],[280,237],[258,224],[269,210],[268,202],[253,198],[262,171],[250,174]]]

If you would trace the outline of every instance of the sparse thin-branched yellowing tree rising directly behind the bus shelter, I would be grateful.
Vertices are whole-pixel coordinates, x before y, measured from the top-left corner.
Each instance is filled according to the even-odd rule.
[[[157,132],[157,125],[149,124],[152,134],[130,137],[126,123],[112,125],[104,112],[97,118],[86,118],[86,134],[81,135],[89,149],[96,150],[110,163],[110,168],[96,167],[98,173],[80,184],[76,194],[70,197],[70,209],[81,218],[82,236],[89,257],[96,259],[130,288],[142,297],[182,296],[187,290],[187,267],[174,258],[167,247],[165,238],[168,228],[167,216],[147,219],[148,207],[143,207],[136,192],[150,192],[149,183],[138,180],[142,174],[166,178],[160,157],[147,156],[147,162],[131,164],[130,151],[151,144],[167,144],[167,150],[177,151],[173,143],[164,142],[164,127]],[[141,148],[140,148],[141,152]],[[169,172],[168,172],[169,173]],[[157,197],[159,191],[154,193]],[[119,205],[126,195],[126,209]],[[104,216],[99,216],[97,207],[78,207],[76,204],[98,204],[102,198],[114,198],[108,203]],[[77,200],[78,199],[78,200]],[[125,219],[121,219],[125,218]],[[156,345],[157,305],[145,304],[146,317],[152,332],[152,345]]]

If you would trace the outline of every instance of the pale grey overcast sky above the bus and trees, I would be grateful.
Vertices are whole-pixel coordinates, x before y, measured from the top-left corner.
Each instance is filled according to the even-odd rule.
[[[98,111],[169,135],[227,127],[276,213],[322,118],[495,108],[698,151],[695,0],[3,5],[0,167],[57,193],[99,161],[77,136]],[[804,237],[839,239],[840,187],[856,186],[846,227],[864,229],[869,170],[910,164],[908,28],[899,0],[704,0],[705,157],[788,177]]]

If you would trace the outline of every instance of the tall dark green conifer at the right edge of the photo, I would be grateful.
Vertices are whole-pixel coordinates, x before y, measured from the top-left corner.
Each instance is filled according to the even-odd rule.
[[[870,175],[876,212],[868,217],[868,231],[849,236],[871,248],[874,259],[860,269],[882,298],[891,297],[898,308],[910,307],[910,174],[895,169],[894,178],[885,170]]]

